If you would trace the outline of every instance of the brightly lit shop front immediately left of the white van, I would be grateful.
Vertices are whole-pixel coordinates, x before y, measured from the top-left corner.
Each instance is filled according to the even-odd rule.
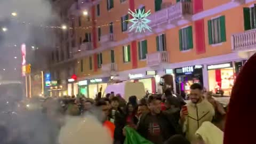
[[[87,97],[94,99],[95,96],[98,95],[100,90],[103,95],[104,94],[103,92],[105,92],[109,81],[110,81],[110,77],[94,78],[94,79],[87,80],[87,83],[88,83]]]

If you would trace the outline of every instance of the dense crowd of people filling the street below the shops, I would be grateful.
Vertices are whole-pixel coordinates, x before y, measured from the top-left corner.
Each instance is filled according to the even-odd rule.
[[[95,99],[61,99],[61,111],[65,115],[81,116],[94,113],[94,108],[100,109],[101,122],[114,144],[123,144],[129,137],[125,126],[155,144],[221,144],[226,109],[199,84],[191,85],[189,100],[186,103],[171,89],[166,89],[164,94],[147,94],[140,100],[133,95],[127,101],[114,92],[105,97],[99,92]]]

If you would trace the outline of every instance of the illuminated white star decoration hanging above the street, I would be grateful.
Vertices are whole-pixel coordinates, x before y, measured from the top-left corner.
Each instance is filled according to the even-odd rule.
[[[151,28],[148,26],[148,23],[151,21],[147,19],[148,15],[151,14],[150,10],[145,13],[145,9],[143,10],[135,10],[135,12],[129,9],[129,14],[132,15],[132,19],[128,20],[132,22],[132,25],[129,27],[129,31],[135,30],[135,33],[138,31],[141,33],[142,31],[145,33],[145,30],[151,31]]]

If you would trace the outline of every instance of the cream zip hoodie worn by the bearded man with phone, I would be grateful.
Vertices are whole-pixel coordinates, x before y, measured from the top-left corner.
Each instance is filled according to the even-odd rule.
[[[212,104],[206,100],[202,100],[200,103],[187,103],[188,116],[186,117],[183,125],[183,131],[186,132],[186,138],[192,141],[197,129],[205,121],[212,121],[214,116],[214,108]]]

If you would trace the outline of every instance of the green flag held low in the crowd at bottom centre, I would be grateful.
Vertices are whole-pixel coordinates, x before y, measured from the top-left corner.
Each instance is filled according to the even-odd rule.
[[[129,126],[124,127],[126,137],[124,144],[154,144],[147,139],[141,137],[141,135]]]

